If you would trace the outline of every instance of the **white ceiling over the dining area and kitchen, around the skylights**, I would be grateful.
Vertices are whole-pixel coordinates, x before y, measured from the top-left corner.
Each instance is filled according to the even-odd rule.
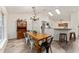
[[[8,13],[33,13],[33,6],[6,6]],[[70,14],[79,10],[78,6],[36,6],[37,13],[48,14],[51,11],[57,17],[55,9],[59,9],[61,16],[69,17]],[[55,18],[56,18],[55,17]],[[54,18],[54,17],[53,17]]]

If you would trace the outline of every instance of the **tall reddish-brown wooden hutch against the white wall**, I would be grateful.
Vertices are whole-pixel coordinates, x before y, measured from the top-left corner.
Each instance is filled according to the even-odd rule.
[[[25,20],[17,20],[17,39],[24,38],[24,33],[27,31],[27,22]]]

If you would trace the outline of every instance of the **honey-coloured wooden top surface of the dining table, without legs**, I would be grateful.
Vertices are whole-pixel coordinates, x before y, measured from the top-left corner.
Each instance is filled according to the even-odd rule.
[[[37,33],[35,35],[33,32],[27,32],[27,34],[29,34],[36,41],[47,39],[49,37],[49,35],[43,33]]]

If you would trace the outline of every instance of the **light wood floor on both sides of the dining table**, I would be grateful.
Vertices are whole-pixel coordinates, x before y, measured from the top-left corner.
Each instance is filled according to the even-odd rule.
[[[30,50],[30,48],[25,44],[24,39],[11,39],[5,48],[5,53],[36,53]],[[59,41],[52,42],[52,52],[53,53],[79,53],[79,39],[76,41],[60,43]]]

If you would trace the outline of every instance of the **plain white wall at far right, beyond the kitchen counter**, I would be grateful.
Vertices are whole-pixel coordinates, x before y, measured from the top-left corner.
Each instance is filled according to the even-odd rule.
[[[76,33],[76,37],[78,37],[78,24],[79,24],[78,13],[72,13],[71,14],[71,28],[72,28],[71,31]]]

